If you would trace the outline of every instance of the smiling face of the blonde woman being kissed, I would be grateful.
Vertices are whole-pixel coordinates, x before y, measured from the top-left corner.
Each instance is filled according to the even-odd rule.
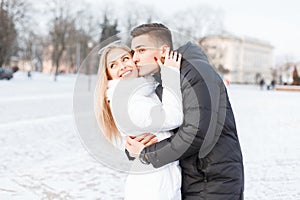
[[[107,73],[109,79],[128,79],[138,77],[138,69],[131,54],[121,48],[112,49],[107,54]]]

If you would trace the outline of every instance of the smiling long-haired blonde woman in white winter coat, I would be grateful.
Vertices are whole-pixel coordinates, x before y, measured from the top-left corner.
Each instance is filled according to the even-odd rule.
[[[133,136],[150,132],[163,140],[171,136],[168,130],[182,123],[181,55],[168,51],[166,55],[166,66],[157,61],[161,66],[163,86],[161,102],[155,93],[158,83],[152,76],[138,77],[138,69],[127,46],[109,45],[102,53],[97,118],[105,136],[123,150],[124,138],[120,132]],[[122,115],[124,112],[128,113],[129,121]],[[129,174],[125,199],[178,200],[181,199],[180,187],[181,170],[176,161],[159,169],[152,168],[150,173]]]

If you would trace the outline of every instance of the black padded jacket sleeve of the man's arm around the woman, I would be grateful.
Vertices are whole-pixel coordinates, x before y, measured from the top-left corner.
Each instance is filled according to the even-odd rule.
[[[192,66],[182,69],[183,124],[170,138],[145,148],[141,153],[155,167],[199,152],[211,117],[208,87]]]

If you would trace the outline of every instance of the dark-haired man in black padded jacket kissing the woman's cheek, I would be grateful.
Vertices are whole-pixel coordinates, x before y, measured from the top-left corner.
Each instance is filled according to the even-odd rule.
[[[133,29],[131,36],[139,75],[158,72],[154,57],[164,62],[168,56],[166,49],[172,49],[170,30],[162,24],[144,24]],[[156,168],[179,160],[182,199],[243,199],[242,153],[224,83],[197,45],[187,43],[178,52],[183,57],[183,124],[171,138],[147,147],[144,144],[151,136],[144,140],[127,137],[126,149]],[[160,91],[158,87],[158,95]]]

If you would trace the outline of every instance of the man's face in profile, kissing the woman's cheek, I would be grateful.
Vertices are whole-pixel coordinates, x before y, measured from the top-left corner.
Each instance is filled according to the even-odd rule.
[[[134,50],[133,61],[139,69],[139,76],[145,76],[159,71],[159,65],[154,57],[161,59],[162,48],[148,35],[134,37],[131,42],[131,49]]]

